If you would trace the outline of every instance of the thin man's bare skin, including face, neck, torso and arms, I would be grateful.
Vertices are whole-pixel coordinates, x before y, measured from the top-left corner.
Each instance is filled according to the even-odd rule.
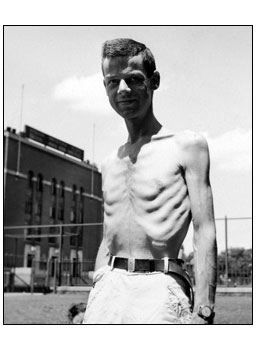
[[[104,233],[96,276],[110,255],[177,258],[193,220],[195,311],[214,306],[217,250],[207,142],[193,132],[174,134],[158,122],[152,101],[160,75],[146,70],[145,52],[111,50],[103,55],[104,85],[128,141],[102,166]],[[195,312],[192,323],[205,321]]]

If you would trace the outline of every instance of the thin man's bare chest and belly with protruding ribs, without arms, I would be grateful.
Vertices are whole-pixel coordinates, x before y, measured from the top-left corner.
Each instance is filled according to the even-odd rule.
[[[162,128],[104,163],[104,231],[112,255],[178,257],[191,220],[183,139]]]

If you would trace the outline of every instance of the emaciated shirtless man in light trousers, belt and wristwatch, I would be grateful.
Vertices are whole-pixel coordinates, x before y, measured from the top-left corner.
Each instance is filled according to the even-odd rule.
[[[128,140],[102,166],[104,237],[84,323],[212,324],[217,246],[207,142],[156,119],[160,75],[144,44],[105,42],[102,71]],[[194,306],[178,258],[191,220]]]

